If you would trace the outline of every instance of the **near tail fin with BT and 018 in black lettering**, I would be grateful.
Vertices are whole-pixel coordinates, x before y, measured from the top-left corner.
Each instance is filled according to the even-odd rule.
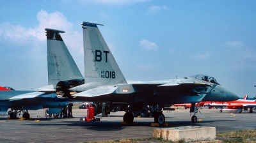
[[[84,82],[97,86],[127,84],[97,25],[83,22]]]

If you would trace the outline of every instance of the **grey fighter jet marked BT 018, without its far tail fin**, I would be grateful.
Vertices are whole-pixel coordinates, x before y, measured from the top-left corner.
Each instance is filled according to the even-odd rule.
[[[194,75],[182,79],[150,82],[127,82],[104,41],[97,25],[83,22],[84,84],[69,90],[76,100],[90,102],[126,103],[124,122],[134,120],[132,112],[150,105],[155,123],[164,124],[162,109],[175,103],[192,103],[191,121],[196,123],[198,108],[195,103],[204,101],[228,102],[239,97],[221,86],[214,77]],[[65,96],[65,95],[64,95]]]

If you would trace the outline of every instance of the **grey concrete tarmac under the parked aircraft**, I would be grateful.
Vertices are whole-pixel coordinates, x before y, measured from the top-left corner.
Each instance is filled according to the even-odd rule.
[[[33,120],[6,119],[0,116],[0,142],[88,142],[95,140],[143,139],[152,137],[153,128],[175,126],[214,126],[216,132],[256,128],[256,112],[220,112],[220,109],[201,109],[197,123],[191,123],[189,109],[164,111],[168,126],[150,126],[152,117],[134,117],[135,124],[120,124],[125,112],[115,112],[100,121],[79,121],[86,116],[86,109],[73,109],[74,118],[45,118],[44,110],[29,110]],[[18,115],[17,117],[22,117]],[[35,121],[40,120],[40,121]],[[199,121],[202,120],[202,121]]]

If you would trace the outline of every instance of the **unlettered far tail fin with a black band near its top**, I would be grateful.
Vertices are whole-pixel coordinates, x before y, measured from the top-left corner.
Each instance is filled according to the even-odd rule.
[[[83,79],[83,75],[70,55],[60,31],[45,28],[47,36],[48,85],[56,85],[59,81]]]

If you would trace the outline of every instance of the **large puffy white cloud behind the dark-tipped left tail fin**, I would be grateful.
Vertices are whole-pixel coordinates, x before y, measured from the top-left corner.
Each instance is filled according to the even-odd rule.
[[[37,13],[38,26],[34,29],[25,28],[23,26],[14,26],[10,23],[0,25],[0,36],[3,36],[8,41],[15,41],[17,45],[28,44],[28,47],[33,47],[32,51],[45,48],[42,44],[46,41],[45,28],[60,29],[66,33],[61,34],[67,47],[78,49],[83,52],[83,34],[72,30],[72,23],[68,22],[67,18],[60,12],[55,11],[48,13],[41,10]],[[46,42],[45,42],[46,43]],[[10,44],[13,44],[10,42]]]

